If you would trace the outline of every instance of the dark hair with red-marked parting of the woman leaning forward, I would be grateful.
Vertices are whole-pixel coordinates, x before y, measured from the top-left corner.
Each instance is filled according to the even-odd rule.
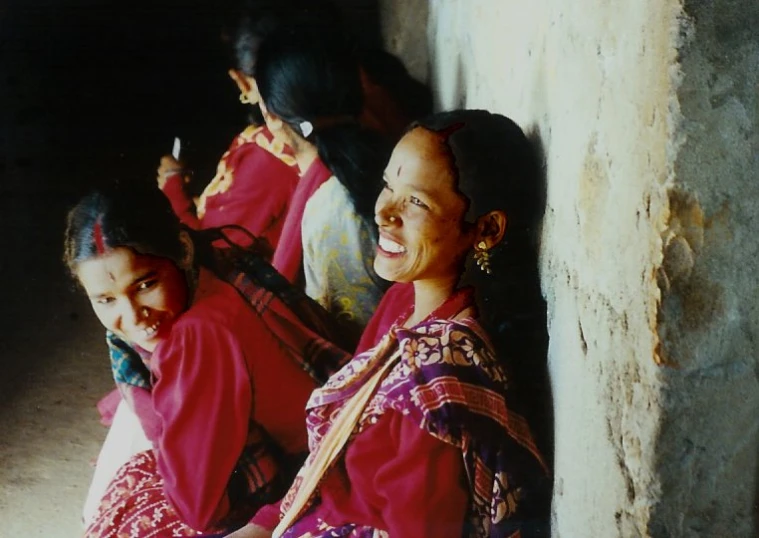
[[[179,263],[182,227],[166,197],[155,187],[109,185],[82,198],[66,220],[63,259],[77,265],[116,247],[162,256]]]

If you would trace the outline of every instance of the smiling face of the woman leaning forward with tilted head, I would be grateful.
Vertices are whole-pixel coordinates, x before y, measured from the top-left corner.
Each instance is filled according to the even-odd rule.
[[[103,326],[147,351],[187,308],[187,281],[168,258],[117,247],[79,263],[76,274]]]

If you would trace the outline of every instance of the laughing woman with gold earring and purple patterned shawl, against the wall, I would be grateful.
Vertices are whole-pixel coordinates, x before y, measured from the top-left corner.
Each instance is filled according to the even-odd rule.
[[[497,330],[508,321],[498,317],[509,312],[508,298],[475,300],[491,280],[513,276],[497,274],[499,258],[508,264],[502,256],[528,244],[531,155],[516,124],[485,111],[438,114],[401,139],[375,206],[374,267],[411,283],[413,305],[312,394],[311,454],[281,514],[266,507],[231,536],[535,532],[546,468],[511,407],[507,356],[478,321]],[[469,254],[477,263],[465,270]],[[460,286],[462,275],[481,281],[479,289]]]

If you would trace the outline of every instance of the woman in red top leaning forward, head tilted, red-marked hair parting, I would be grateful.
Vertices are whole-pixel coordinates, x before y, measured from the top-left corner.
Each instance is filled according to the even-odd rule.
[[[209,246],[155,190],[94,193],[69,213],[65,261],[119,351],[114,377],[153,446],[118,471],[87,536],[233,530],[302,461],[317,383],[299,352],[341,352],[271,330],[270,312],[287,317],[278,299],[218,278]]]

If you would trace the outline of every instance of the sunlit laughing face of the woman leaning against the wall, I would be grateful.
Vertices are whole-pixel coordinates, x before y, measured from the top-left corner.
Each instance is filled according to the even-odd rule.
[[[374,208],[377,274],[394,282],[457,279],[473,245],[467,203],[455,188],[437,135],[417,127],[393,150]]]

